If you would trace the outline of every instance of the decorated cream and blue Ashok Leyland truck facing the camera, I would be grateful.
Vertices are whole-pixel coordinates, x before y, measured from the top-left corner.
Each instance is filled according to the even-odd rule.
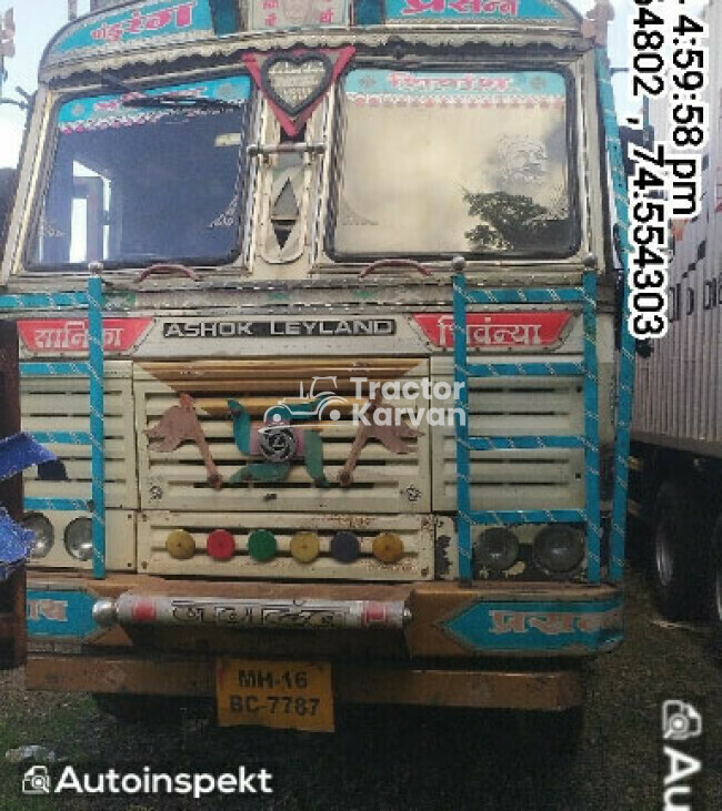
[[[608,19],[144,0],[50,42],[0,291],[57,456],[29,689],[578,727],[623,636]]]

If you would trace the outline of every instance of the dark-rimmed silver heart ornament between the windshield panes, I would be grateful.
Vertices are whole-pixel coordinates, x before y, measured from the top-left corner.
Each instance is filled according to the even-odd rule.
[[[333,64],[324,53],[270,57],[261,67],[263,90],[289,115],[312,104],[331,83]]]

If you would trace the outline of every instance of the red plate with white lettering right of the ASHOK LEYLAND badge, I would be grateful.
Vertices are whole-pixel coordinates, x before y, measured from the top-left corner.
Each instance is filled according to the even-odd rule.
[[[453,347],[453,316],[450,313],[419,313],[414,321],[434,346]],[[467,318],[467,346],[548,347],[561,341],[572,314],[470,313]]]

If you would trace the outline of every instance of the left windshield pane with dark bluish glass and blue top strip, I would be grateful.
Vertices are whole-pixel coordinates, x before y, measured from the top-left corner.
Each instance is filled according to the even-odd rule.
[[[63,104],[32,264],[229,261],[250,95],[243,75]]]

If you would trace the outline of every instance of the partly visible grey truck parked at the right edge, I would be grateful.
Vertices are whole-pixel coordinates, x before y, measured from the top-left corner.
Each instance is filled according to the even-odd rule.
[[[706,7],[710,42],[722,11]],[[710,49],[710,131],[699,216],[673,223],[669,332],[636,364],[630,511],[649,530],[658,601],[672,620],[710,617],[722,638],[722,141],[719,49]],[[666,136],[666,110],[652,104],[650,133]]]

